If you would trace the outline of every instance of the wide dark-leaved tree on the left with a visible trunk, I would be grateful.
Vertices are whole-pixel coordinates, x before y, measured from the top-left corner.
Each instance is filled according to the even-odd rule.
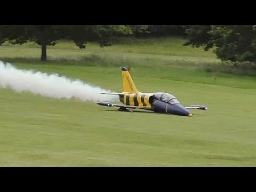
[[[23,44],[28,41],[41,45],[41,60],[46,61],[47,46],[54,46],[58,39],[70,39],[84,49],[88,41],[96,41],[101,47],[111,45],[118,35],[143,33],[147,26],[128,25],[25,25],[0,26],[0,44],[10,41],[11,44]]]

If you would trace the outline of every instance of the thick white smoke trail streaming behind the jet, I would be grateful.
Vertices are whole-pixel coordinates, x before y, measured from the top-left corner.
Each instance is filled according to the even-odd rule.
[[[30,91],[52,98],[77,98],[82,101],[114,101],[117,95],[100,94],[111,92],[95,87],[76,79],[70,79],[58,74],[46,74],[40,71],[21,70],[10,63],[4,65],[0,61],[0,88],[10,87],[16,92]]]

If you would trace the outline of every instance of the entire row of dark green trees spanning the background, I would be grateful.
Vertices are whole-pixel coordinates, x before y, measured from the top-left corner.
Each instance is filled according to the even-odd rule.
[[[222,61],[256,61],[256,25],[2,25],[0,45],[6,41],[23,44],[29,41],[41,45],[41,60],[47,59],[46,47],[58,39],[73,41],[84,49],[86,43],[98,42],[110,46],[120,36],[138,38],[183,36],[184,46],[211,48]]]

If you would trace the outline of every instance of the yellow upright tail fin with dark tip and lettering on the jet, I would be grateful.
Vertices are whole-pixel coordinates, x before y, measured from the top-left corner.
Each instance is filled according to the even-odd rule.
[[[123,80],[123,89],[125,92],[129,93],[139,93],[135,84],[132,81],[132,77],[126,67],[121,67],[122,69],[122,80]]]

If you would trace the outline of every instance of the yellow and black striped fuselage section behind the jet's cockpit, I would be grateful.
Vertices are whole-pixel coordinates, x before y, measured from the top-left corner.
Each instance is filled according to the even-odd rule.
[[[124,105],[151,108],[153,94],[123,92],[123,95],[119,95],[119,99]]]

